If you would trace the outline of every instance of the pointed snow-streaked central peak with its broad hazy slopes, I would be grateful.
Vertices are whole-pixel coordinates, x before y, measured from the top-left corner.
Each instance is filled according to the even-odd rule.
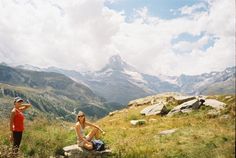
[[[143,74],[127,64],[119,55],[112,56],[100,71],[80,73],[48,68],[45,71],[59,72],[87,85],[99,96],[111,102],[126,105],[130,100],[158,92],[178,91],[178,86],[161,81],[156,76]]]

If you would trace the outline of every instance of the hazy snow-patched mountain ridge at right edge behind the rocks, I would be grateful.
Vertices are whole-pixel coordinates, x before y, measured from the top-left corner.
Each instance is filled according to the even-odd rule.
[[[234,94],[236,67],[221,72],[201,75],[181,75],[177,79],[181,91],[186,94]]]

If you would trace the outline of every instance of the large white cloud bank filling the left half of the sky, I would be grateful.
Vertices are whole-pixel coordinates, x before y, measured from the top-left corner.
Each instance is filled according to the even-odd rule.
[[[102,0],[2,0],[0,15],[0,61],[77,70],[103,66],[123,21]]]

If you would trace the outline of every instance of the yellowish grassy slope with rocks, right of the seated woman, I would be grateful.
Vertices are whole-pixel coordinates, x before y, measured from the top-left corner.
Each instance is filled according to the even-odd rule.
[[[174,117],[145,117],[139,114],[145,107],[141,106],[103,118],[99,124],[107,131],[104,140],[118,157],[233,158],[235,96],[231,99],[224,96],[213,98],[227,103],[226,110],[214,118],[207,116],[210,110],[207,107]],[[147,123],[133,127],[129,123],[132,119],[146,119]],[[177,132],[159,135],[168,129],[177,129]]]

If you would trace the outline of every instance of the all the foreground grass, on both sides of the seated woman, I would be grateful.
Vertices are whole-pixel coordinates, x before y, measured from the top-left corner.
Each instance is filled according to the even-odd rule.
[[[227,103],[220,116],[209,117],[208,107],[190,114],[173,117],[141,116],[145,106],[124,109],[97,121],[105,131],[102,139],[115,157],[147,158],[234,158],[235,96],[213,96]],[[147,123],[132,126],[130,120],[145,119]],[[0,121],[0,157],[10,148],[8,120]],[[22,157],[50,157],[62,153],[62,147],[75,144],[72,123],[38,118],[26,120],[26,131],[20,149]],[[171,135],[163,130],[177,129]],[[10,150],[9,150],[10,151]]]

